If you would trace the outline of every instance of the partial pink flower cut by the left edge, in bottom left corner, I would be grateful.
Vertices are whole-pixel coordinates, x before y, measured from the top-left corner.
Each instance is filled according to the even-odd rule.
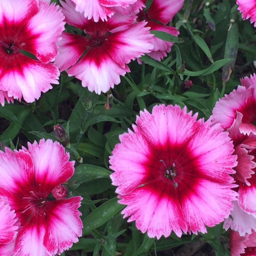
[[[0,255],[12,255],[19,226],[14,210],[0,200]]]

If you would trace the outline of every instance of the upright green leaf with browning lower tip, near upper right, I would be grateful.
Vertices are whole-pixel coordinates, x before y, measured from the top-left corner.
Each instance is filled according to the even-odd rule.
[[[234,64],[237,59],[238,51],[238,26],[236,23],[231,24],[231,28],[228,30],[227,41],[225,45],[224,58],[229,58],[230,61],[223,66],[222,80],[223,85],[229,80],[233,71]]]

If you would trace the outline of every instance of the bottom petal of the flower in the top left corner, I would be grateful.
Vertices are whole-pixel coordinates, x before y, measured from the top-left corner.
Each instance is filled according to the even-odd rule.
[[[18,53],[3,67],[0,65],[0,90],[8,91],[8,96],[33,102],[41,93],[58,84],[59,70],[52,63],[41,63]]]

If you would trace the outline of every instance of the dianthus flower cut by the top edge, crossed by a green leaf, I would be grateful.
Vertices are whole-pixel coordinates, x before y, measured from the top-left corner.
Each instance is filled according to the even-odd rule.
[[[147,0],[142,0],[145,4]],[[159,30],[172,35],[179,35],[179,31],[170,26],[165,26],[170,22],[173,16],[182,8],[184,0],[153,0],[150,8],[145,12],[140,11],[138,14],[139,20],[146,20],[147,27],[151,27],[151,30]],[[156,21],[158,22],[156,22]],[[161,40],[157,37],[152,42],[154,48],[151,53],[148,53],[152,58],[161,60],[167,56],[167,53],[171,51],[172,42]],[[139,62],[141,62],[139,60]]]

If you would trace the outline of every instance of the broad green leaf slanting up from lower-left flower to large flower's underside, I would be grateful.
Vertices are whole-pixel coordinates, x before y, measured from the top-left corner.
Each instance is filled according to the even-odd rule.
[[[88,234],[91,230],[102,226],[125,207],[125,205],[122,205],[117,201],[118,199],[116,197],[112,198],[109,201],[101,204],[96,210],[92,211],[83,220],[83,235]]]

